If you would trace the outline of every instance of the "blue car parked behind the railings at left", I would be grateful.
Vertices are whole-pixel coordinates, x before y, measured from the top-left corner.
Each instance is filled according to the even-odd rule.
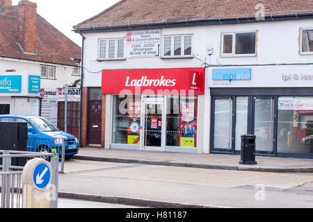
[[[0,115],[2,122],[24,122],[28,127],[27,151],[62,155],[65,142],[65,157],[69,159],[79,151],[77,137],[65,133],[44,117]]]

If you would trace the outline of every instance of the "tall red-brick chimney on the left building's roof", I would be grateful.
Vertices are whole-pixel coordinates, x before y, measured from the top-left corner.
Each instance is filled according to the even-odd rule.
[[[22,0],[19,1],[18,9],[18,44],[24,53],[35,54],[37,4],[31,1]]]

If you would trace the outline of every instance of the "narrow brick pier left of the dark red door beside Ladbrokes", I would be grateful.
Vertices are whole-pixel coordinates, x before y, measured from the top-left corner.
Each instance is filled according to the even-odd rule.
[[[87,146],[88,88],[83,87],[81,101],[81,145]]]

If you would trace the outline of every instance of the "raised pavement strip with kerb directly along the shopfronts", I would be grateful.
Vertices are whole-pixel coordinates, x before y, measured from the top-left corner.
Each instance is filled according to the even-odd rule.
[[[74,159],[234,171],[313,173],[313,160],[266,156],[257,156],[256,165],[243,165],[239,164],[240,155],[161,153],[153,151],[80,148],[79,154],[75,155]]]

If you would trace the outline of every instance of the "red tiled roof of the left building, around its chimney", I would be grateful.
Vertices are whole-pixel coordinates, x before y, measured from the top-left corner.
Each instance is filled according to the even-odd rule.
[[[71,58],[81,58],[81,47],[63,35],[40,15],[37,16],[36,56],[27,55],[17,45],[18,6],[0,11],[0,57],[76,66]]]

